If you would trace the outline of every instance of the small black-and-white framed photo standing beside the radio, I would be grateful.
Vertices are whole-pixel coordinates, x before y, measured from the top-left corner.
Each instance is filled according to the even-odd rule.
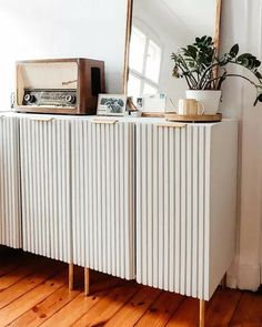
[[[124,94],[99,94],[98,115],[124,115],[128,96]]]

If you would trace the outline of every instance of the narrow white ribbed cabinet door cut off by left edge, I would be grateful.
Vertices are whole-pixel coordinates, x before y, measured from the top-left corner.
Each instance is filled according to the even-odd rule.
[[[21,247],[18,119],[0,117],[0,244]]]

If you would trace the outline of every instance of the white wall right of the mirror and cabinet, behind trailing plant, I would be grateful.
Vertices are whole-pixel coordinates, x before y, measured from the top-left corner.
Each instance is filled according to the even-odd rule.
[[[239,42],[242,52],[262,59],[262,1],[223,0],[222,50]],[[229,284],[258,289],[262,263],[262,104],[252,106],[255,91],[230,80],[223,90],[223,113],[240,120],[238,257]]]

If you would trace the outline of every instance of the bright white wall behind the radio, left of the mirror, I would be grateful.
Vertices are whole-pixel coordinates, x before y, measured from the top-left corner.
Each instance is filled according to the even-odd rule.
[[[17,60],[100,59],[107,91],[122,92],[125,18],[127,0],[1,0],[0,110],[10,108]]]

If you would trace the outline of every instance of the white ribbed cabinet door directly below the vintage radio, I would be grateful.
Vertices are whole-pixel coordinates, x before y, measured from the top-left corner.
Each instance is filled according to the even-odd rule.
[[[20,115],[22,247],[71,260],[70,121]]]

